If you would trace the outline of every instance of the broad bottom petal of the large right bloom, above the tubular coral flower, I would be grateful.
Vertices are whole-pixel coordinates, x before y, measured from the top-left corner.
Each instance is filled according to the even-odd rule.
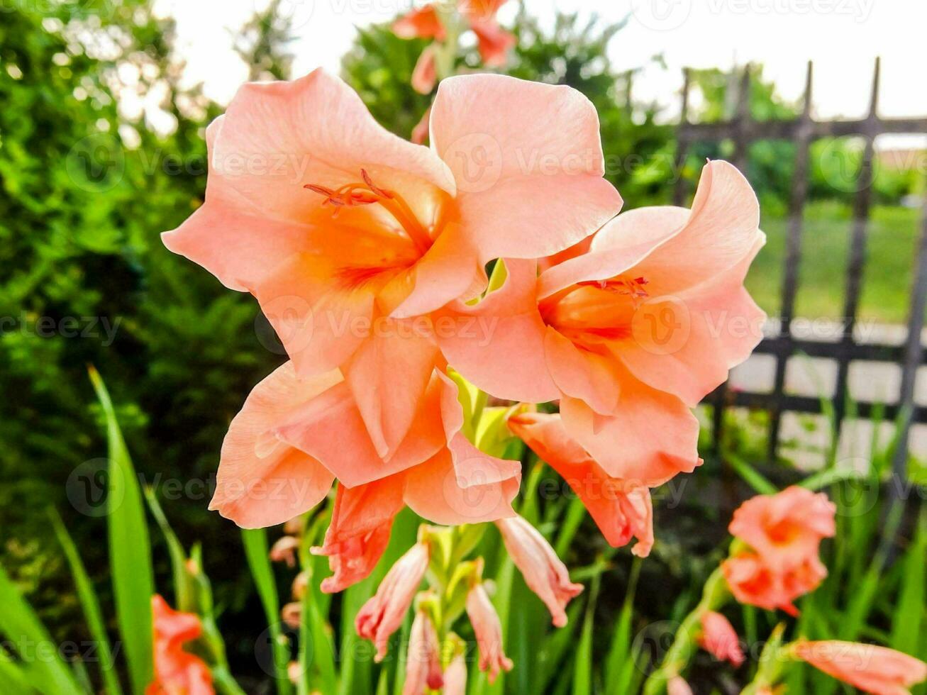
[[[698,420],[674,396],[633,378],[622,379],[613,415],[601,415],[577,398],[563,398],[566,431],[612,477],[635,486],[658,486],[692,473],[698,458]]]

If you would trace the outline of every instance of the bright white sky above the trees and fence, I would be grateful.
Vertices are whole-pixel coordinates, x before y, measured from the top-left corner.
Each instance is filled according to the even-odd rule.
[[[425,0],[284,0],[294,19],[297,73],[337,70],[356,27],[391,19]],[[227,101],[247,71],[232,51],[232,32],[267,0],[158,0],[177,19],[190,80]],[[676,110],[680,69],[730,67],[755,61],[788,97],[801,94],[805,63],[815,61],[819,118],[865,113],[874,57],[883,58],[883,116],[927,115],[924,52],[927,2],[922,0],[525,0],[528,11],[552,20],[557,8],[598,12],[610,21],[630,14],[612,43],[619,69],[662,53],[668,69],[649,69],[636,82],[639,98]],[[502,23],[516,0],[503,7]]]

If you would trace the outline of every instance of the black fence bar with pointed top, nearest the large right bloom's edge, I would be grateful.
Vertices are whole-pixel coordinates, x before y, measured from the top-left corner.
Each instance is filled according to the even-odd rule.
[[[798,290],[798,264],[802,253],[803,215],[808,191],[808,148],[811,143],[813,129],[811,122],[813,81],[814,66],[809,60],[805,73],[805,100],[796,138],[792,195],[789,198],[789,232],[785,242],[785,268],[782,276],[782,305],[780,310],[779,345],[781,350],[776,353],[776,373],[772,387],[776,405],[769,411],[769,438],[767,442],[769,461],[775,461],[779,453],[779,431],[782,420],[780,403],[785,390],[785,369],[793,353],[792,319],[795,311],[795,296]]]

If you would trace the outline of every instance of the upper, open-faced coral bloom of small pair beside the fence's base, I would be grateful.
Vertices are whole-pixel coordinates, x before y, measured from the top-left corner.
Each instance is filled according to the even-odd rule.
[[[757,495],[734,512],[729,530],[774,569],[790,569],[817,556],[821,538],[836,532],[837,508],[827,495],[791,486]]]

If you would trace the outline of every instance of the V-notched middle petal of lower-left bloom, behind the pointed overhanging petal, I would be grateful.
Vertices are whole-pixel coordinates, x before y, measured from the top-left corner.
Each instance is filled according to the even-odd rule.
[[[292,411],[275,432],[287,444],[324,461],[343,486],[361,486],[427,461],[446,446],[439,398],[436,379],[419,404],[409,435],[388,460],[377,454],[347,384]]]

